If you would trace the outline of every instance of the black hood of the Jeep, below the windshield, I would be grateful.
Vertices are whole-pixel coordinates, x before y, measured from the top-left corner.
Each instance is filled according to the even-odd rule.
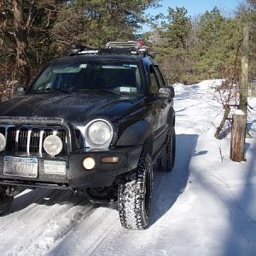
[[[115,96],[104,92],[47,93],[18,96],[0,103],[0,116],[61,118],[84,125],[88,119],[115,121],[140,108],[137,96]]]

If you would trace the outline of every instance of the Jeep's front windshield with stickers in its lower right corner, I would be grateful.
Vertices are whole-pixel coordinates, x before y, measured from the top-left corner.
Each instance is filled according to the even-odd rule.
[[[137,63],[120,61],[79,61],[53,63],[32,84],[29,93],[102,90],[136,94],[141,86]]]

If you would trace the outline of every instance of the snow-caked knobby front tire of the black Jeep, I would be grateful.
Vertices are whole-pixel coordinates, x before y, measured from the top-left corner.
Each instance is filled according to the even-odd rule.
[[[122,226],[143,230],[148,225],[152,197],[152,160],[148,153],[140,157],[137,170],[125,173],[119,181],[118,210]]]

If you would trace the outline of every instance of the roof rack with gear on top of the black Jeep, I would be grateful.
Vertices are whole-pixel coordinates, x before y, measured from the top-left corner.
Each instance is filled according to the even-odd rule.
[[[137,41],[108,42],[102,49],[79,45],[71,49],[69,55],[144,55],[154,58],[154,53]]]

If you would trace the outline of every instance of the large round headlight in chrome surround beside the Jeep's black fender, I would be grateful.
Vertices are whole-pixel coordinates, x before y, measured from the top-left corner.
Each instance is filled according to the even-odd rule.
[[[86,125],[85,138],[92,148],[108,147],[113,138],[113,127],[104,119],[95,119]]]

